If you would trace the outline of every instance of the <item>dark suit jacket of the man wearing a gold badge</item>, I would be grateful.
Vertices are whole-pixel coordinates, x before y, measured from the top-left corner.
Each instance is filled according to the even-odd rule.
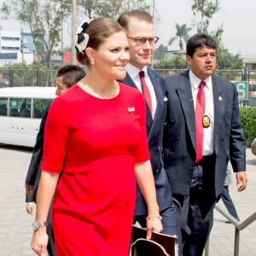
[[[211,203],[222,192],[228,160],[231,160],[234,172],[245,171],[246,168],[246,143],[241,128],[235,86],[212,75],[212,90],[215,168],[212,168],[212,174],[204,172],[205,198]],[[166,96],[168,106],[163,138],[166,172],[172,193],[189,195],[190,170],[195,165],[196,149],[195,109],[189,72],[166,78]],[[212,198],[209,198],[207,193]]]

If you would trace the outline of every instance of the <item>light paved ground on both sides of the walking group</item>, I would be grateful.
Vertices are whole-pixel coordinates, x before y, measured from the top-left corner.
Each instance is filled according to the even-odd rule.
[[[0,145],[0,255],[35,255],[30,249],[34,217],[26,213],[24,182],[32,150]],[[234,183],[230,194],[237,212],[244,221],[256,212],[256,156],[247,149],[247,190],[236,192]],[[222,202],[220,202],[221,204]],[[210,237],[209,255],[234,255],[235,228],[224,222],[225,218],[215,211]],[[256,221],[241,230],[240,256],[256,256]],[[118,256],[118,255],[117,255]]]

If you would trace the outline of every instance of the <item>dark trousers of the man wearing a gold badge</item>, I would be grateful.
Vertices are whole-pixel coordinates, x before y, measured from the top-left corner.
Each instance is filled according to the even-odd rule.
[[[183,256],[201,256],[212,230],[215,206],[214,156],[203,157],[191,167],[189,195],[173,194],[180,218]]]

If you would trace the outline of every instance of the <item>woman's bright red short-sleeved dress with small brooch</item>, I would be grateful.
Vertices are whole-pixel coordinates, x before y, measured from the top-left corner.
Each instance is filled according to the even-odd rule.
[[[128,255],[134,164],[149,159],[145,127],[143,96],[125,84],[113,99],[78,84],[55,99],[41,168],[61,172],[65,155],[52,216],[57,255]]]

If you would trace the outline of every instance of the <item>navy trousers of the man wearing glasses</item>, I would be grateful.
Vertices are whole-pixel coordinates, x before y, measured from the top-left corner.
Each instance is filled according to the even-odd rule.
[[[163,234],[166,235],[176,235],[177,236],[177,244],[178,244],[178,255],[182,256],[182,236],[179,225],[179,220],[177,217],[177,212],[174,204],[171,207],[167,207],[163,211],[160,212],[160,216],[162,217],[163,224]],[[133,224],[138,222],[143,228],[146,227],[146,216],[139,215],[134,216]]]

